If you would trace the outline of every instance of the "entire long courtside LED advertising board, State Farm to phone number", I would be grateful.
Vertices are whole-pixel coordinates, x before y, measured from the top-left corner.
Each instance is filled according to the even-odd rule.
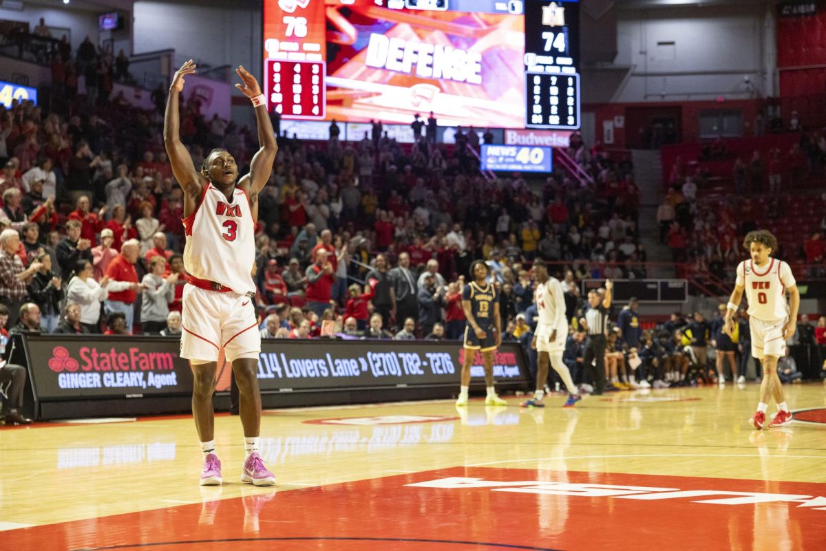
[[[26,361],[39,400],[143,398],[192,393],[192,370],[168,337],[27,335]],[[259,384],[267,392],[397,389],[457,385],[465,357],[459,341],[291,341],[263,339]],[[521,348],[494,353],[502,383],[526,383]],[[230,388],[231,366],[221,355],[216,390]],[[474,352],[472,383],[482,382],[482,353]],[[311,405],[311,404],[308,404]]]

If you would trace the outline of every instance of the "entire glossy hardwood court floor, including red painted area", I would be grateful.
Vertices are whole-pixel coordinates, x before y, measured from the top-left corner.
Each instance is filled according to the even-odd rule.
[[[200,487],[191,417],[0,431],[2,549],[826,549],[826,386],[754,431],[759,386],[264,412],[275,488]],[[807,410],[800,412],[800,410]],[[634,542],[630,544],[629,542]]]

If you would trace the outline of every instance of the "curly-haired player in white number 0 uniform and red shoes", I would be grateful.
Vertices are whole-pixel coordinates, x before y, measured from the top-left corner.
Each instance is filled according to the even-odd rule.
[[[797,290],[791,268],[784,261],[771,258],[777,249],[777,239],[766,230],[749,232],[743,242],[751,259],[737,266],[737,283],[725,313],[724,332],[732,337],[734,314],[737,313],[743,290],[748,299],[749,328],[752,333],[752,356],[763,362],[763,380],[760,384],[760,403],[749,424],[762,429],[771,398],[777,404],[777,414],[769,427],[786,426],[791,413],[783,398],[783,389],[777,377],[777,360],[786,353],[786,341],[796,330],[800,292]],[[786,291],[789,303],[786,303]]]

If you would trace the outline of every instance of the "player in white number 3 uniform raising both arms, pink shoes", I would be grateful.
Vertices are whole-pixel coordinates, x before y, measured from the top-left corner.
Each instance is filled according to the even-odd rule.
[[[187,244],[183,263],[192,277],[183,290],[181,357],[189,360],[195,379],[192,416],[204,455],[201,484],[221,484],[221,461],[213,441],[212,393],[218,351],[223,348],[240,389],[246,451],[241,482],[270,486],[275,477],[258,452],[261,393],[257,374],[261,337],[256,330],[255,285],[250,272],[255,261],[259,192],[273,170],[278,144],[258,81],[239,67],[235,73],[244,84],[235,87],[253,103],[261,148],[250,162],[249,174],[240,180],[235,158],[223,149],[212,150],[201,172],[197,172],[178,130],[183,80],[195,73],[195,68],[190,59],[173,77],[164,117],[164,144],[184,194]]]

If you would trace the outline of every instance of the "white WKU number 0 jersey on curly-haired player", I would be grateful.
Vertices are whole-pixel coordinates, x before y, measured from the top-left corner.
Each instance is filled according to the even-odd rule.
[[[797,285],[791,268],[784,261],[769,258],[765,266],[755,266],[752,260],[737,266],[737,285],[743,285],[748,299],[748,315],[763,322],[789,317],[786,289]]]

